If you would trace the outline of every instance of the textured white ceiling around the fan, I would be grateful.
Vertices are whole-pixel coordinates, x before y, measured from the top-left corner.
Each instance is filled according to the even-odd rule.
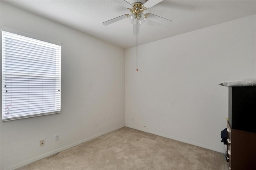
[[[124,49],[136,46],[136,36],[132,36],[133,25],[128,18],[108,26],[102,25],[104,21],[130,14],[130,10],[112,0],[11,0],[6,2]],[[256,14],[256,1],[164,0],[146,12],[168,18],[173,22],[170,26],[163,26],[146,20],[140,26],[139,44]]]

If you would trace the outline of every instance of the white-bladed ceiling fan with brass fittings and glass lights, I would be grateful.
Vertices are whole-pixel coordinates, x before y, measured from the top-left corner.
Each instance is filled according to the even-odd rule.
[[[114,2],[117,2],[118,4],[128,8],[131,14],[124,14],[122,16],[118,16],[106,22],[102,22],[102,24],[104,26],[107,26],[119,20],[129,18],[130,22],[133,24],[134,36],[139,34],[139,26],[140,24],[145,22],[145,18],[163,25],[168,25],[170,24],[170,22],[172,22],[172,20],[168,20],[166,18],[151,13],[143,13],[145,10],[151,8],[152,6],[155,6],[156,4],[162,1],[163,0],[114,0]]]

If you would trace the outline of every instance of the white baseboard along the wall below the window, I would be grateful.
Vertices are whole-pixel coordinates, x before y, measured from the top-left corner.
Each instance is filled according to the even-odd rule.
[[[74,147],[74,146],[76,146],[76,145],[78,145],[78,144],[82,144],[82,143],[84,143],[84,142],[87,142],[88,140],[92,140],[92,139],[94,139],[94,138],[97,138],[97,137],[99,137],[99,136],[102,136],[102,135],[104,135],[104,134],[107,134],[107,133],[109,133],[109,132],[112,132],[112,131],[117,130],[117,129],[122,128],[122,127],[124,127],[124,125],[122,125],[122,126],[120,126],[120,127],[113,128],[113,129],[111,129],[111,130],[107,130],[107,131],[102,132],[102,133],[100,133],[100,134],[96,134],[96,135],[94,135],[94,136],[92,136],[92,137],[89,137],[89,138],[80,140],[80,141],[78,141],[78,142],[69,144],[69,145],[67,145],[67,146],[64,146],[64,147],[62,147],[62,148],[53,150],[53,151],[51,151],[51,152],[48,152],[48,153],[45,153],[45,154],[36,156],[36,157],[34,157],[34,158],[32,158],[32,159],[29,159],[29,160],[26,160],[26,161],[24,161],[24,162],[22,162],[22,163],[19,163],[19,164],[15,164],[15,165],[13,165],[13,166],[10,166],[10,167],[6,168],[5,170],[15,170],[15,169],[21,168],[22,166],[26,166],[26,165],[31,164],[32,162],[35,162],[35,161],[40,160],[40,159],[42,159],[42,158],[46,158],[46,157],[48,157],[48,156],[57,154],[58,152],[61,152],[61,151],[66,150],[66,149],[68,149],[68,148],[72,148],[72,147]]]

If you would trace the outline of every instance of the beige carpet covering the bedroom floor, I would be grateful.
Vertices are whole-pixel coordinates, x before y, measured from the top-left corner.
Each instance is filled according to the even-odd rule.
[[[224,154],[123,127],[19,170],[226,170]]]

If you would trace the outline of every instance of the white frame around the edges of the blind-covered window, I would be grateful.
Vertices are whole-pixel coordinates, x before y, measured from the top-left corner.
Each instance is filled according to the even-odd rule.
[[[59,109],[57,110],[57,111],[54,111],[54,110],[50,110],[49,109],[49,111],[44,111],[44,113],[42,113],[42,111],[41,111],[41,113],[40,112],[35,112],[35,113],[27,113],[26,115],[25,114],[23,114],[23,115],[19,115],[19,116],[16,116],[16,117],[7,117],[7,118],[4,118],[4,89],[3,88],[5,88],[4,87],[4,77],[3,77],[3,75],[4,75],[4,73],[3,73],[3,65],[4,65],[4,63],[3,63],[3,59],[4,59],[4,43],[3,43],[3,32],[8,32],[8,33],[11,33],[11,34],[16,34],[16,35],[18,35],[18,36],[23,36],[23,37],[26,37],[26,38],[28,38],[28,39],[34,39],[34,40],[36,40],[36,41],[40,41],[40,42],[44,42],[44,43],[50,43],[50,44],[52,44],[52,45],[55,45],[55,46],[58,46],[59,47],[59,58],[57,59],[58,61],[59,61],[59,63],[57,62],[57,61],[55,61],[55,67],[58,67],[59,66],[59,69],[58,69],[58,71],[59,71],[59,73],[58,73],[58,77],[59,77],[59,84],[58,83],[56,83],[56,81],[57,80],[55,80],[54,82],[55,82],[55,86],[58,84],[59,85],[59,95],[55,95],[54,96],[54,99],[56,100],[56,99],[59,99]],[[36,36],[32,36],[32,35],[29,35],[29,34],[25,34],[25,33],[22,33],[22,32],[18,32],[18,31],[16,31],[16,30],[12,30],[12,29],[9,29],[9,28],[3,28],[2,27],[2,29],[1,29],[1,44],[0,44],[0,46],[1,46],[1,109],[2,109],[2,114],[1,114],[1,120],[4,122],[4,121],[12,121],[12,120],[16,120],[16,119],[25,119],[25,118],[29,118],[29,117],[38,117],[38,116],[43,116],[43,115],[52,115],[52,114],[57,114],[57,113],[61,113],[61,43],[56,43],[56,42],[52,42],[52,41],[50,41],[50,40],[46,40],[46,39],[42,39],[42,38],[39,38],[39,37],[36,37]],[[57,55],[56,55],[57,56]],[[56,71],[57,71],[57,69],[56,69]],[[29,74],[29,73],[28,73]],[[55,77],[56,77],[56,73],[55,73]],[[55,87],[56,88],[56,87]],[[57,96],[59,96],[59,97],[57,97]],[[57,97],[57,98],[56,98]],[[40,108],[40,107],[38,107],[38,108]]]

